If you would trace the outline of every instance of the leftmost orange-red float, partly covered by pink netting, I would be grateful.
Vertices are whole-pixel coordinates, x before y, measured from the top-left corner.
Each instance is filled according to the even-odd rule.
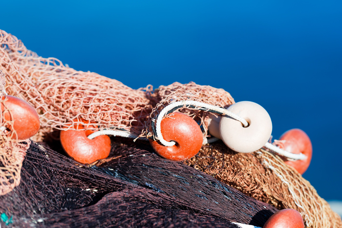
[[[6,95],[2,97],[2,100],[4,99],[6,99],[4,105],[11,110],[12,114],[11,116],[8,111],[5,111],[4,121],[14,121],[13,129],[8,130],[15,130],[18,140],[25,140],[34,136],[40,128],[36,109],[17,97]],[[1,111],[5,110],[4,105],[1,104]]]

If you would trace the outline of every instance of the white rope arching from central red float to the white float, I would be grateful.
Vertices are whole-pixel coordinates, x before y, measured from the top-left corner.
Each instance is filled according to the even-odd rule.
[[[173,142],[173,141],[168,142],[168,141],[164,140],[162,132],[161,132],[161,122],[162,122],[162,119],[163,119],[163,117],[166,115],[166,113],[168,111],[170,111],[171,109],[173,109],[173,108],[175,108],[177,106],[180,106],[180,105],[183,105],[184,107],[186,107],[186,105],[193,105],[195,107],[208,108],[208,109],[211,109],[211,110],[223,113],[222,115],[228,115],[228,116],[232,117],[233,119],[235,119],[237,121],[240,121],[245,127],[248,126],[248,122],[245,119],[239,117],[238,115],[234,114],[233,112],[228,111],[225,108],[217,107],[217,106],[214,106],[214,105],[211,105],[211,104],[205,104],[205,103],[202,103],[202,102],[196,102],[196,101],[174,102],[172,104],[169,104],[165,108],[163,108],[163,110],[159,113],[157,121],[156,121],[156,124],[155,124],[156,133],[157,133],[157,135],[156,135],[157,139],[159,140],[159,142],[161,144],[163,144],[165,146],[172,146],[172,145],[175,145],[176,143]]]

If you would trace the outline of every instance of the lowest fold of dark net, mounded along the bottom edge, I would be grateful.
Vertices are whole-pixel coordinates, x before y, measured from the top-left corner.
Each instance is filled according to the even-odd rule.
[[[35,227],[127,227],[127,228],[238,228],[235,224],[220,219],[192,213],[162,205],[163,200],[157,202],[147,194],[134,190],[123,190],[108,193],[95,205],[66,210],[60,213],[46,214],[44,217],[34,216],[37,224],[28,222],[25,225]],[[85,219],[86,218],[86,219]]]

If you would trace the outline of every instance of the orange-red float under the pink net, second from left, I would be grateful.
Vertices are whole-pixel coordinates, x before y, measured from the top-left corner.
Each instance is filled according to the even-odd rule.
[[[108,157],[110,153],[109,136],[100,135],[94,139],[88,139],[87,136],[97,130],[86,129],[84,125],[75,126],[75,129],[79,130],[61,131],[60,136],[62,146],[70,157],[82,164],[90,164]]]

